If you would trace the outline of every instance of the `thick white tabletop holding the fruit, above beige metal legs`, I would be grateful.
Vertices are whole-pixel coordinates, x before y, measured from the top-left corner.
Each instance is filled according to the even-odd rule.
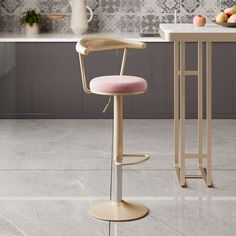
[[[236,28],[206,24],[196,27],[193,24],[160,24],[160,34],[164,41],[183,42],[236,42]]]

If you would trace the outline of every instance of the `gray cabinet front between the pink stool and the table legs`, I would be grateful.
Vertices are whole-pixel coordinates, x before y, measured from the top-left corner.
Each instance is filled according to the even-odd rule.
[[[170,118],[173,113],[173,45],[149,43],[146,50],[130,50],[127,74],[143,77],[148,92],[134,96],[133,118]]]

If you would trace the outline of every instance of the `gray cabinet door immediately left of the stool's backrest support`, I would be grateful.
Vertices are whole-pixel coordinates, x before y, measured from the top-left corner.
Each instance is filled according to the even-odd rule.
[[[32,112],[74,118],[82,113],[78,55],[72,43],[34,43]]]

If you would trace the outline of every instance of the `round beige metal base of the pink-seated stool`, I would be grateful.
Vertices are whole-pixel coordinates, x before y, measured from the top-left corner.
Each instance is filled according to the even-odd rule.
[[[143,218],[148,214],[146,206],[136,202],[107,201],[90,206],[89,214],[106,221],[131,221]]]

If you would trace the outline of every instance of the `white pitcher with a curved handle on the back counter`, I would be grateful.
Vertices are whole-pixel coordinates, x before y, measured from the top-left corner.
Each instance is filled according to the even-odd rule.
[[[70,26],[75,34],[84,34],[88,31],[88,23],[93,19],[93,11],[85,6],[84,0],[70,0],[72,9]],[[90,18],[87,17],[87,10]]]

